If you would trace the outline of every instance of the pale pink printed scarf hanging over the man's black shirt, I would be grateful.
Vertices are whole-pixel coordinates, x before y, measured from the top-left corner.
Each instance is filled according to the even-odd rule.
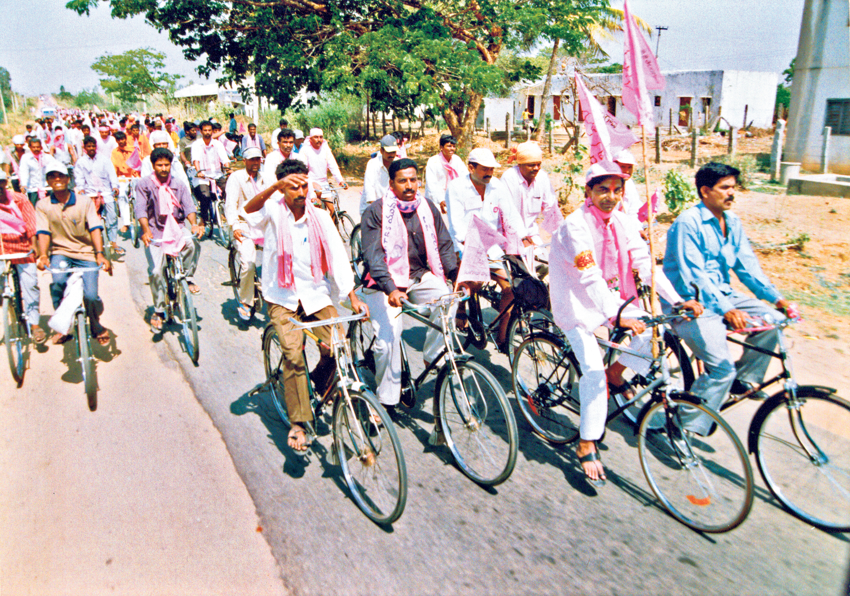
[[[414,201],[402,205],[403,202],[399,201],[393,190],[388,190],[382,201],[381,246],[386,254],[389,275],[396,287],[411,287],[411,264],[407,258],[407,226],[402,221],[399,207],[409,206],[411,211],[416,210],[416,217],[419,218],[422,234],[425,236],[428,269],[445,281],[443,263],[439,258],[437,229],[433,224],[433,213],[431,207],[428,207],[428,201],[417,193]]]

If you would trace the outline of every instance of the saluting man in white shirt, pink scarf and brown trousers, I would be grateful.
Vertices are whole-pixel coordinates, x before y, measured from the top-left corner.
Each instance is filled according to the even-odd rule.
[[[346,295],[355,312],[368,309],[354,294],[354,272],[330,216],[307,200],[307,166],[289,159],[280,163],[276,176],[277,181],[247,202],[240,215],[252,230],[263,235],[263,299],[280,339],[284,400],[292,423],[287,444],[295,451],[305,451],[307,433],[301,423],[312,421],[313,412],[301,350],[303,333],[289,319],[320,321],[335,317],[333,303]],[[320,326],[314,332],[325,343],[320,345],[319,364],[310,373],[321,393],[336,364],[327,349],[331,329]]]

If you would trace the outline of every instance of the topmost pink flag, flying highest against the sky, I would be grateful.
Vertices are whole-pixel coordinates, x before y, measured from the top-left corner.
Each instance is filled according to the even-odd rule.
[[[647,89],[661,90],[665,87],[664,77],[658,68],[658,60],[643,33],[629,14],[629,3],[623,5],[626,20],[626,39],[623,44],[623,105],[638,117],[644,127],[655,125],[652,114],[654,102]]]

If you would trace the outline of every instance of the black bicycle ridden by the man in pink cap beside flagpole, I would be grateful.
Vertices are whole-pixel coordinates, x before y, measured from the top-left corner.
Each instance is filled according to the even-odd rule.
[[[633,298],[632,298],[633,299]],[[617,314],[620,316],[630,299]],[[679,316],[642,317],[659,326]],[[648,358],[626,346],[597,338],[600,346],[651,360],[646,386],[617,407],[606,424],[644,398],[638,413],[638,457],[643,475],[666,511],[697,531],[724,532],[740,525],[750,513],[753,474],[738,436],[717,412],[697,395],[671,384],[666,357]],[[566,444],[579,438],[580,400],[577,378],[581,367],[563,336],[535,332],[514,355],[513,390],[519,409],[541,439]],[[706,414],[717,425],[707,437],[684,428],[683,417]]]

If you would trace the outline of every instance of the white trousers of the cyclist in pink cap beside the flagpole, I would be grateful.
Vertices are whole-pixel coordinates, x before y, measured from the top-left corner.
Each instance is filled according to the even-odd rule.
[[[622,318],[635,319],[646,316],[643,309],[638,309],[631,304],[623,310]],[[596,343],[596,336],[583,327],[573,327],[564,331],[570,348],[575,354],[581,368],[579,378],[579,401],[581,403],[581,423],[579,423],[579,434],[583,440],[598,440],[605,430],[605,418],[608,417],[608,379],[605,377],[605,366],[603,363],[603,350]],[[652,359],[652,328],[632,338],[629,349],[638,354],[646,355],[649,360],[638,356],[622,354],[617,360],[626,368],[639,375],[647,375]]]

